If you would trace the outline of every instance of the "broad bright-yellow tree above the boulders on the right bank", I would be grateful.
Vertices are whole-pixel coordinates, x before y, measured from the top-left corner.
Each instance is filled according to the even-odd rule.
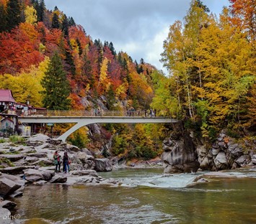
[[[227,9],[219,24],[211,17],[208,27],[202,29],[196,52],[196,63],[203,74],[203,88],[198,93],[205,100],[201,105],[209,113],[209,125],[222,128],[227,121],[234,126],[254,78],[247,66],[250,43],[240,29],[232,26]]]

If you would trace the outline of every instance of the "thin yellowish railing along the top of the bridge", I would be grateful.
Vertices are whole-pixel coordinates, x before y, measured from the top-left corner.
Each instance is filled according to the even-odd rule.
[[[49,116],[49,117],[92,117],[92,116],[109,116],[109,117],[127,117],[127,116],[150,116],[145,111],[35,111],[25,116]]]

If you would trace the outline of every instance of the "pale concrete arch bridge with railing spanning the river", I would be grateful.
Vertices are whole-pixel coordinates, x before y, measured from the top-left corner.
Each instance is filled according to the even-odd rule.
[[[19,116],[21,123],[75,123],[58,137],[62,141],[82,126],[92,123],[177,123],[165,116],[145,116],[141,111],[104,111],[95,115],[92,111],[43,111],[30,116]]]

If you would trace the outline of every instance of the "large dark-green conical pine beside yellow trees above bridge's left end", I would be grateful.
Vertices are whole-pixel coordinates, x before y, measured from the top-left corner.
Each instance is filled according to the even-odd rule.
[[[50,59],[50,65],[41,82],[43,88],[43,104],[49,110],[69,110],[71,101],[69,81],[63,69],[61,57],[55,52]]]

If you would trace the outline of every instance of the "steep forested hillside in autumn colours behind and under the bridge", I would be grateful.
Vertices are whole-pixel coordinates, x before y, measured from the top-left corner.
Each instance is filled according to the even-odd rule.
[[[116,52],[112,42],[92,40],[58,6],[49,11],[43,0],[0,0],[0,21],[0,88],[12,90],[17,102],[50,110],[149,109],[152,77],[159,72],[142,58],[136,62]],[[89,129],[76,131],[69,141],[102,151],[112,139],[114,155],[130,151],[131,157],[155,157],[159,149],[151,139],[159,139],[156,128]]]

